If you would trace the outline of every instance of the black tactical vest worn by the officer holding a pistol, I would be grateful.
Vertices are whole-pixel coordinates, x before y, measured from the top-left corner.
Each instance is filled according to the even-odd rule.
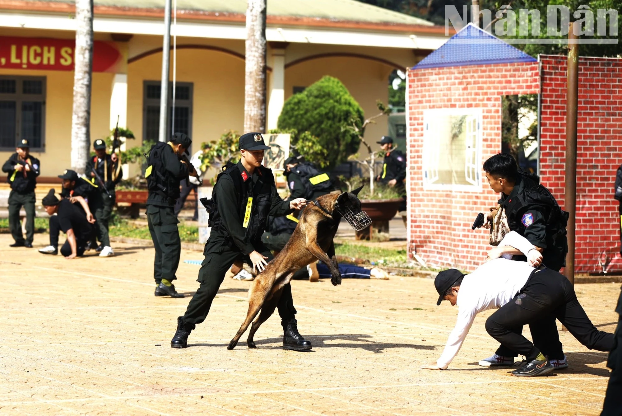
[[[564,259],[568,252],[568,241],[566,239],[566,225],[569,214],[560,208],[548,189],[539,184],[537,176],[520,173],[524,186],[522,192],[512,197],[506,208],[508,216],[508,226],[510,230],[518,232],[524,236],[527,226],[522,223],[523,215],[531,209],[542,212],[546,220],[546,243],[547,248],[543,255],[553,257],[555,263],[564,265]],[[547,263],[547,258],[544,259]],[[551,262],[551,260],[549,260]],[[549,267],[552,265],[546,264]]]

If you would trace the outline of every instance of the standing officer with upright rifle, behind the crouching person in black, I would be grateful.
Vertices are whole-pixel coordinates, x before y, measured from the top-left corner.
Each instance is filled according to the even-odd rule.
[[[98,187],[91,192],[88,206],[95,214],[95,231],[97,239],[100,240],[100,245],[95,251],[100,253],[100,257],[109,257],[114,255],[114,252],[110,247],[108,221],[116,199],[114,187],[123,178],[123,169],[118,166],[120,161],[116,154],[106,154],[106,142],[102,139],[95,140],[93,149],[96,155],[86,162],[86,174]]]

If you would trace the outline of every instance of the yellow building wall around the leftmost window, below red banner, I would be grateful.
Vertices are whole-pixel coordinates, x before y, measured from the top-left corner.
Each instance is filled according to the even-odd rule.
[[[0,69],[0,75],[45,77],[45,150],[32,152],[41,162],[41,176],[57,176],[71,167],[73,71]],[[113,74],[93,73],[91,143],[108,136]],[[0,152],[4,162],[12,152]]]

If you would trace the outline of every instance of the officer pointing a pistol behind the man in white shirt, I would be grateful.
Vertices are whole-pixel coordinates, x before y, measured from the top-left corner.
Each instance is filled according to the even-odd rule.
[[[536,174],[518,171],[514,158],[506,153],[491,156],[484,163],[488,183],[494,192],[501,193],[499,204],[503,206],[511,231],[516,231],[529,240],[542,253],[545,267],[559,272],[565,265],[568,243],[566,240],[567,213],[555,201],[549,190],[539,184]],[[517,251],[514,259],[525,260]],[[518,257],[518,258],[517,258]],[[530,324],[531,335],[536,345],[557,369],[568,367],[562,343],[559,341],[557,325],[553,316],[543,316],[541,321]],[[522,331],[522,328],[519,329]],[[511,365],[516,352],[503,345],[496,356],[480,361],[490,361],[490,366]]]

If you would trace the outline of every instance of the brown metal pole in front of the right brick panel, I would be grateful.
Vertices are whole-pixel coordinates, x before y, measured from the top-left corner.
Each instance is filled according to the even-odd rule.
[[[568,92],[566,96],[566,187],[564,208],[570,214],[568,225],[568,254],[564,275],[575,283],[575,212],[577,209],[577,106],[579,48],[577,35],[570,23],[568,34]]]

